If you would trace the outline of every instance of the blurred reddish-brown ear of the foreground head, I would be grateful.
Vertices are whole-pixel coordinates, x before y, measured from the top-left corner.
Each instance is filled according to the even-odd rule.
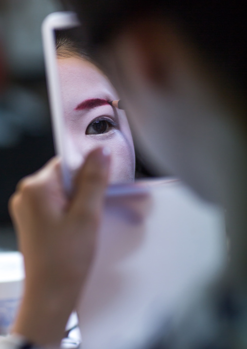
[[[152,18],[128,23],[116,35],[102,57],[107,75],[122,98],[126,91],[136,98],[147,86],[153,91],[174,90],[177,64],[183,57],[177,50],[177,37],[169,23]]]

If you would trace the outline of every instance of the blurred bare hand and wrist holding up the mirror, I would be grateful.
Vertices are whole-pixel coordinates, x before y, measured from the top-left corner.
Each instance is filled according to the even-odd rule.
[[[21,180],[9,209],[25,261],[25,292],[13,332],[36,345],[58,343],[91,265],[108,181],[109,154],[86,158],[68,199],[52,159]]]

